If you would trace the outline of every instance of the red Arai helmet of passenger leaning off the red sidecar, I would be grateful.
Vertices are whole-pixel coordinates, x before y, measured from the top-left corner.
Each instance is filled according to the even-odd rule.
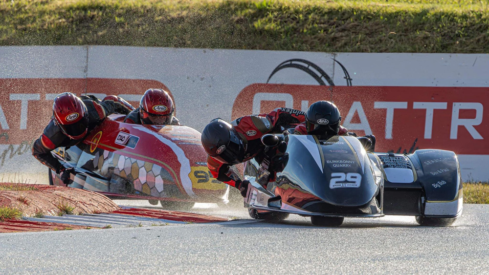
[[[70,139],[85,137],[89,127],[87,106],[72,93],[62,93],[54,99],[54,123]]]

